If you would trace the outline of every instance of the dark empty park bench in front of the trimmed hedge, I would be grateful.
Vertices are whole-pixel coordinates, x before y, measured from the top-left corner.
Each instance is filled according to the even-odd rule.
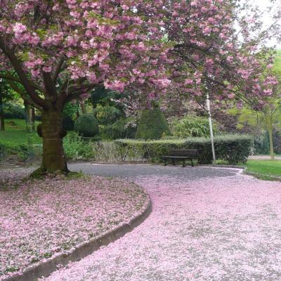
[[[191,161],[191,166],[194,166],[193,159],[197,159],[198,150],[196,149],[174,149],[170,150],[168,155],[162,156],[161,158],[164,160],[164,165],[169,164],[176,165],[176,160],[183,161],[183,167],[185,167],[185,160]]]

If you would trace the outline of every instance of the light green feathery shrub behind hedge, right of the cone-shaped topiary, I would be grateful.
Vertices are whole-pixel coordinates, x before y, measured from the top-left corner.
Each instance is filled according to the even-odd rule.
[[[177,138],[208,137],[210,136],[209,120],[207,117],[187,115],[181,120],[171,123],[171,131]],[[218,132],[216,124],[213,123],[214,133]]]

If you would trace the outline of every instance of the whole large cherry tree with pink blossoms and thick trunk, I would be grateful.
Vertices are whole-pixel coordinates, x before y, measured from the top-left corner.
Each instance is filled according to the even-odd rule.
[[[256,11],[238,0],[0,0],[0,78],[42,112],[43,171],[67,171],[63,106],[96,86],[134,89],[145,106],[173,88],[251,95],[262,72],[254,54],[279,30],[278,17],[264,30]]]

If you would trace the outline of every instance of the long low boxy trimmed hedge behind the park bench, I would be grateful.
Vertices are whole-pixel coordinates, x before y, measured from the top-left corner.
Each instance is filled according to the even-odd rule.
[[[182,140],[137,141],[117,140],[120,147],[126,148],[126,153],[135,154],[138,159],[148,159],[149,162],[159,162],[160,157],[171,149],[196,148],[199,150],[198,163],[211,164],[211,140],[209,138],[187,138]],[[228,164],[247,162],[253,147],[253,138],[248,135],[216,136],[214,139],[216,158]],[[132,156],[132,155],[131,155]]]

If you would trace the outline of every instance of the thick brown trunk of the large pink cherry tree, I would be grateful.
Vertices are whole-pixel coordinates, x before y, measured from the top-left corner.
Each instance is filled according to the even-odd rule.
[[[67,173],[67,163],[63,151],[63,138],[66,136],[66,131],[63,130],[62,110],[42,112],[42,124],[39,127],[40,134],[43,138],[41,170],[48,173],[55,171]]]

